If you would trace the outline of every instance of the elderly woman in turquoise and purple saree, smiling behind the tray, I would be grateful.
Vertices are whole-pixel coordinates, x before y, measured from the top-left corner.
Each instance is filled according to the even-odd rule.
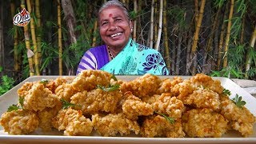
[[[118,1],[105,2],[98,10],[99,34],[105,45],[90,48],[77,70],[105,70],[112,74],[169,74],[157,50],[134,42],[133,23],[126,7]]]

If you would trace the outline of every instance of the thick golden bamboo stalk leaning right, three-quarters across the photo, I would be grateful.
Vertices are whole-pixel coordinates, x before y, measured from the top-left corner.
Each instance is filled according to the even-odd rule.
[[[199,11],[199,15],[198,15],[198,23],[197,23],[197,27],[195,29],[194,32],[194,40],[193,40],[193,44],[192,44],[192,50],[191,50],[191,54],[190,54],[190,60],[193,60],[194,63],[194,67],[193,67],[193,71],[192,74],[195,74],[195,68],[196,68],[196,50],[197,50],[197,46],[198,46],[198,36],[199,36],[199,31],[200,31],[200,27],[201,27],[201,23],[202,23],[202,17],[203,17],[203,12],[204,12],[204,8],[205,8],[205,4],[206,4],[206,0],[202,0],[201,1],[201,6],[200,6],[200,11]]]

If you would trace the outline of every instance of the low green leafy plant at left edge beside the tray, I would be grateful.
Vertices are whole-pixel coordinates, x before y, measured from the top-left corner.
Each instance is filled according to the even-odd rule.
[[[0,72],[2,71],[2,66],[0,66]],[[14,87],[14,78],[10,78],[7,75],[3,75],[0,83],[0,96],[5,94],[8,90]]]

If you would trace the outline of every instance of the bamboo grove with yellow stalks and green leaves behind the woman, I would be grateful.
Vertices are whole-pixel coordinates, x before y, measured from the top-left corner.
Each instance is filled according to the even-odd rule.
[[[161,52],[170,74],[256,78],[255,0],[121,1],[134,22],[131,37]],[[102,2],[2,2],[1,10],[8,15],[3,15],[1,42],[11,43],[1,46],[4,71],[23,78],[74,75],[82,54],[102,44],[97,21]],[[12,18],[22,8],[30,12],[30,23],[14,26]],[[8,55],[10,66],[3,60]]]

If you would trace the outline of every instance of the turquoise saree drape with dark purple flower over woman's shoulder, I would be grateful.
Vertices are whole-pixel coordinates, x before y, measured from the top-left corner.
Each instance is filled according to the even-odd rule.
[[[166,63],[157,50],[142,46],[131,38],[125,48],[101,70],[112,74],[169,74]]]

